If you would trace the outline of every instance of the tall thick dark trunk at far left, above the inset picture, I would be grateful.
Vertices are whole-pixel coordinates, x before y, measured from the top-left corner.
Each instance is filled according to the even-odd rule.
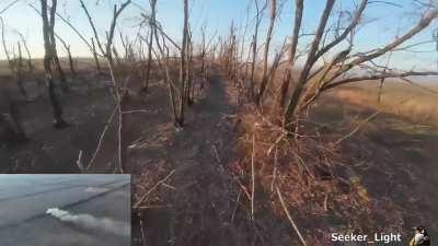
[[[53,0],[51,9],[50,9],[50,23],[47,16],[47,0],[41,0],[42,3],[42,17],[43,17],[43,36],[44,36],[44,70],[46,75],[46,82],[48,85],[48,94],[51,103],[51,108],[54,113],[54,126],[55,128],[65,128],[67,122],[62,118],[62,108],[58,101],[58,96],[55,92],[55,83],[54,75],[51,70],[51,63],[54,61],[54,46],[50,42],[50,32],[54,32],[55,27],[55,11],[56,11],[56,0]]]

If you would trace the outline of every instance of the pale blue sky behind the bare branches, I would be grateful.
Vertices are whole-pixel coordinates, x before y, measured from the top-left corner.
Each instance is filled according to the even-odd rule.
[[[0,0],[0,11],[13,2],[14,0]],[[80,8],[79,0],[58,0],[58,13],[68,17],[70,22],[77,26],[80,32],[87,36],[92,37],[91,28],[89,26],[87,16]],[[96,22],[97,32],[100,36],[105,36],[105,31],[110,26],[112,19],[112,5],[120,0],[84,0],[88,4],[93,19]],[[117,26],[116,33],[116,45],[119,44],[119,31],[124,35],[128,35],[130,39],[136,37],[138,30],[138,23],[140,21],[141,13],[146,10],[149,12],[148,0],[132,0],[136,4],[131,4],[120,16],[120,22]],[[41,16],[27,5],[26,2],[34,4],[36,8],[41,8],[38,0],[20,0],[16,4],[5,11],[1,16],[5,22],[5,33],[8,49],[12,51],[15,46],[18,35],[14,31],[21,32],[27,40],[32,55],[34,57],[43,56],[43,35],[42,35],[42,20]],[[207,33],[214,34],[218,32],[218,35],[224,35],[229,32],[231,22],[234,22],[235,26],[242,27],[246,21],[246,10],[253,0],[192,0],[191,1],[191,26],[194,32],[195,40],[199,40],[199,31],[203,24],[207,25]],[[274,48],[278,47],[285,36],[291,34],[292,21],[293,21],[293,1],[283,0],[285,2],[279,19],[276,23],[274,33]],[[325,1],[323,0],[306,0],[304,1],[304,19],[303,19],[303,33],[312,33],[318,24],[321,16],[322,9],[324,8]],[[335,5],[335,13],[339,10],[354,10],[354,4],[357,4],[359,0],[337,0]],[[396,5],[389,5],[379,3],[371,3],[365,11],[364,21],[366,24],[358,31],[356,35],[355,51],[367,51],[370,48],[382,47],[388,42],[392,40],[396,35],[403,34],[410,26],[418,21],[418,14],[422,11],[414,0],[392,0],[391,2]],[[141,10],[139,7],[143,8]],[[165,32],[178,40],[182,33],[182,21],[183,21],[183,0],[158,0],[158,13],[157,19],[163,24]],[[254,8],[253,4],[250,5]],[[250,15],[250,28],[245,35],[249,39],[252,36],[254,26],[254,11],[251,11]],[[332,17],[335,20],[335,16]],[[261,40],[266,35],[267,17],[264,19],[262,28],[260,32]],[[438,22],[435,21],[431,26],[423,31],[412,40],[405,45],[416,44],[419,42],[427,42],[433,39],[433,31],[438,28]],[[243,27],[241,28],[243,30]],[[71,46],[72,54],[74,57],[89,57],[91,56],[89,49],[83,42],[60,20],[57,20],[55,31]],[[104,38],[102,38],[104,39]],[[300,47],[304,47],[309,38],[302,38]],[[396,52],[392,56],[390,65],[392,67],[402,69],[417,68],[422,70],[436,70],[438,51],[436,50],[435,43],[427,43],[425,45],[416,46],[412,48],[415,52],[403,51]],[[419,52],[418,52],[419,51]],[[65,55],[65,50],[60,43],[58,43],[58,52],[60,56]],[[122,49],[119,50],[122,52]],[[4,51],[0,49],[0,59],[5,59]],[[383,57],[377,62],[387,63],[387,57]]]

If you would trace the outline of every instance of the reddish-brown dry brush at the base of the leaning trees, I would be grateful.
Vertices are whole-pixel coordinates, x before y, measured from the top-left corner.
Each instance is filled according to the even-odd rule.
[[[313,242],[311,245],[321,243],[314,241],[318,231],[325,232],[326,236],[327,231],[337,226],[327,219],[331,216],[362,232],[372,227],[370,197],[360,179],[348,174],[341,147],[333,143],[335,139],[321,134],[312,122],[304,122],[306,119],[288,136],[278,125],[278,114],[262,115],[253,105],[242,108],[240,130],[243,134],[238,151],[243,156],[234,165],[234,174],[242,184],[247,184],[251,192],[254,161],[256,212],[257,208],[261,211],[270,203],[270,209],[285,218],[275,194],[278,187],[290,206],[288,209],[296,211],[296,219],[306,230],[308,239]],[[327,220],[322,219],[322,222],[318,218]]]

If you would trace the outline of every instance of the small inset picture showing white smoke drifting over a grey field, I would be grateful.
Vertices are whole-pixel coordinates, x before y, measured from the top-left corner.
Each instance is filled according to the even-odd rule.
[[[0,175],[0,245],[129,246],[130,175]]]

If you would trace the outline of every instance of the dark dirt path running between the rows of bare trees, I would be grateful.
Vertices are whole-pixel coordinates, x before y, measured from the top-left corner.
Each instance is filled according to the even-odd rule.
[[[160,97],[153,90],[153,96]],[[143,225],[143,235],[138,230],[140,226],[135,226],[137,245],[142,245],[142,237],[146,245],[157,246],[170,242],[191,246],[249,242],[247,224],[231,221],[238,192],[223,168],[234,156],[237,134],[231,102],[234,91],[224,83],[223,77],[212,78],[205,96],[187,110],[184,130],[175,131],[170,116],[160,115],[148,120],[141,141],[128,148],[132,173],[137,174],[135,196],[145,194],[158,179],[175,172],[166,185],[160,186],[143,202],[139,216],[135,216],[134,222],[139,224],[141,218]],[[154,99],[149,102],[153,104]],[[158,112],[168,114],[169,110]],[[148,188],[142,189],[145,184]],[[160,206],[165,208],[154,208]]]

